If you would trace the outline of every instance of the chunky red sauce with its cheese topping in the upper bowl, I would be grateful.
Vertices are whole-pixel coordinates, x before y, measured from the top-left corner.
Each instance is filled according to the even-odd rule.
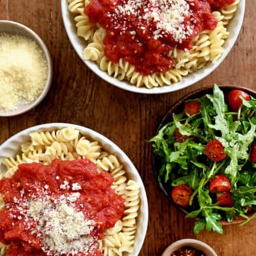
[[[89,21],[106,29],[104,53],[113,63],[135,65],[143,75],[166,72],[174,47],[191,49],[191,40],[217,20],[212,7],[234,0],[92,0],[84,9]]]

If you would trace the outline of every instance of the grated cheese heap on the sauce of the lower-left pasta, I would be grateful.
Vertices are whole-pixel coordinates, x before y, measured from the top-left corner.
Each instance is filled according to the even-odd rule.
[[[89,234],[95,223],[85,219],[82,212],[69,205],[68,200],[52,203],[50,200],[30,202],[27,216],[38,221],[37,229],[42,236],[42,251],[54,255],[77,255],[93,248],[94,239]]]

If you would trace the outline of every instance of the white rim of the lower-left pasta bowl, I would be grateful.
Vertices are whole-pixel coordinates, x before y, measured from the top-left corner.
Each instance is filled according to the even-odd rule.
[[[98,133],[97,131],[89,129],[88,127],[84,127],[82,125],[75,125],[72,123],[44,123],[41,125],[35,125],[10,136],[10,138],[8,138],[7,140],[5,140],[5,142],[0,144],[0,167],[1,167],[1,159],[8,157],[9,155],[9,152],[7,152],[6,154],[3,154],[3,153],[5,153],[5,150],[8,149],[8,145],[11,145],[12,142],[16,142],[16,144],[19,145],[20,147],[20,144],[22,143],[20,140],[25,140],[25,138],[29,138],[29,133],[32,133],[35,131],[36,132],[53,131],[54,129],[61,129],[69,126],[74,127],[74,129],[78,129],[80,133],[84,135],[88,135],[90,138],[93,138],[94,140],[98,140],[100,144],[103,145],[103,148],[104,146],[110,147],[110,149],[112,150],[112,153],[117,154],[118,157],[121,158],[120,161],[127,165],[127,167],[125,168],[128,174],[127,177],[129,178],[129,174],[134,175],[136,178],[136,182],[140,184],[140,219],[136,221],[136,224],[137,224],[137,227],[141,227],[141,230],[140,230],[140,233],[138,233],[138,229],[137,229],[136,236],[135,236],[136,248],[134,246],[133,254],[127,253],[127,255],[138,256],[144,244],[144,240],[146,238],[146,232],[148,229],[149,213],[148,213],[148,197],[146,195],[146,189],[142,181],[142,178],[140,177],[140,174],[136,169],[135,165],[133,164],[133,162],[131,161],[131,159],[129,159],[126,153],[123,152],[123,150],[121,150],[121,148],[117,146],[114,142],[112,142],[112,140],[110,140],[109,138],[106,138],[106,136],[102,135],[101,133]],[[17,145],[15,148],[18,147]],[[15,148],[12,147],[11,150],[14,152],[17,152]],[[1,173],[1,168],[0,168],[0,173]]]

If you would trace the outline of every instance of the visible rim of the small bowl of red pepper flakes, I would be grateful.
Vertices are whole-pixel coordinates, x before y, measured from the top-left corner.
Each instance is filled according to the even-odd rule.
[[[217,256],[217,253],[212,249],[208,244],[201,242],[196,239],[182,239],[178,240],[165,249],[162,256],[170,256],[174,251],[184,247],[184,246],[191,246],[195,249],[199,249],[200,251],[204,252],[206,256]]]

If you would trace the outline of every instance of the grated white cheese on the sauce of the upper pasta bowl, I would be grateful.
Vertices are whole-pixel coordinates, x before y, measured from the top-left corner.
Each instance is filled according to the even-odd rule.
[[[143,24],[156,22],[156,28],[152,31],[154,39],[170,33],[176,42],[182,42],[193,32],[191,25],[184,25],[185,18],[191,16],[187,2],[193,5],[193,0],[128,0],[124,1],[123,5],[116,6],[114,15],[135,16],[138,22]],[[191,22],[193,23],[193,20]],[[129,29],[129,27],[124,27],[124,29]],[[141,26],[140,29],[145,30],[146,27]],[[132,33],[136,35],[136,31]]]

